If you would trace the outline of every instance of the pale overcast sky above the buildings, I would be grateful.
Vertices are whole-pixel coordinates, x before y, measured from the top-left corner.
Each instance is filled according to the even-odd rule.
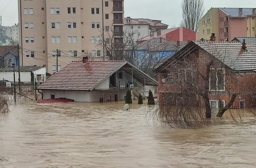
[[[130,16],[131,18],[162,20],[163,23],[169,26],[179,26],[182,20],[181,1],[182,0],[124,0],[124,15],[125,17]],[[204,0],[204,13],[211,7],[256,7],[256,0]],[[17,0],[0,0],[0,13],[0,15],[2,15],[3,26],[12,26],[14,23],[18,23]]]

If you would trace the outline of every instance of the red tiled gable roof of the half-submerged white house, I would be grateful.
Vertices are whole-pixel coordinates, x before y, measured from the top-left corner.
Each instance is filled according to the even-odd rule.
[[[158,85],[155,79],[127,61],[89,61],[86,65],[82,65],[82,61],[72,61],[39,85],[38,89],[92,91],[122,67],[133,68],[133,77],[143,77],[143,81],[145,78],[147,85]],[[129,70],[126,72],[131,73]]]

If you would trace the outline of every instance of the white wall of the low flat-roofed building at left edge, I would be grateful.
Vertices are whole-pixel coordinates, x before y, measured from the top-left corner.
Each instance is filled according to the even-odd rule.
[[[13,72],[0,71],[0,80],[13,82]],[[15,81],[19,82],[19,73],[15,72]],[[31,82],[31,72],[20,72],[20,82]]]

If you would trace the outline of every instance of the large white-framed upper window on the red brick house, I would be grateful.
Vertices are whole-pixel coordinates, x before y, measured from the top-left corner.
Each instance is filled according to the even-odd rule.
[[[210,73],[210,90],[224,91],[224,69],[211,69]]]

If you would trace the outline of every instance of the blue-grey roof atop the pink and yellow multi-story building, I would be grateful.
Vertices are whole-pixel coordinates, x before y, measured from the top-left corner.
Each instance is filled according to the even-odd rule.
[[[239,8],[221,7],[219,9],[231,17],[246,17],[247,15],[255,15],[255,13],[253,13],[253,8],[242,8],[242,13],[239,13]]]

